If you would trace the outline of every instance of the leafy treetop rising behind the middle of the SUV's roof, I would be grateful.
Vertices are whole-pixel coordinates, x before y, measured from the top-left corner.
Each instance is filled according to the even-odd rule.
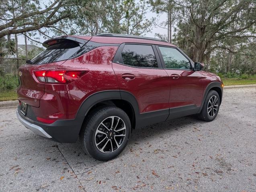
[[[152,30],[155,18],[146,19],[148,7],[142,1],[94,0],[79,6],[79,13],[70,24],[63,28],[71,34],[95,35],[102,32],[143,35]]]

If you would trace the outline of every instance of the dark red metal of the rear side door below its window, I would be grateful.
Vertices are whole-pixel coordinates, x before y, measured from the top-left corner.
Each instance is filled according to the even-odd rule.
[[[135,68],[113,63],[121,91],[134,95],[139,112],[146,113],[169,108],[168,75],[163,69]],[[123,74],[133,74],[134,79],[123,79]]]

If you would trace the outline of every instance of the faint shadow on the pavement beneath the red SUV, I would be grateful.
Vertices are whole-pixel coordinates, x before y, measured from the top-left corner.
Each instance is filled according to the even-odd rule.
[[[131,148],[143,148],[143,146],[147,146],[148,143],[159,143],[160,140],[171,137],[172,135],[175,136],[177,134],[182,134],[182,132],[186,129],[190,129],[195,126],[197,123],[206,123],[204,121],[199,121],[195,119],[193,116],[181,117],[178,119],[172,119],[170,121],[156,123],[153,125],[149,125],[146,127],[142,127],[140,129],[133,129],[131,137],[129,139],[128,146],[125,150],[113,161],[119,158],[125,158],[127,153],[129,154]],[[29,139],[31,140],[31,139]],[[27,140],[28,141],[28,140]],[[30,143],[30,144],[29,144]],[[66,161],[70,168],[74,170],[76,174],[83,174],[88,172],[88,170],[98,164],[104,164],[107,162],[101,162],[98,160],[94,160],[87,154],[85,154],[82,145],[80,144],[80,140],[76,143],[57,143],[55,141],[51,141],[48,139],[43,139],[40,136],[33,138],[31,141],[28,141],[28,144],[33,146],[33,148],[40,150],[42,146],[49,147],[54,149],[54,152],[58,152],[60,156],[63,157],[63,161]],[[138,145],[141,144],[141,145]],[[41,150],[38,155],[45,157],[47,154],[42,153],[49,153],[49,150]],[[48,155],[49,156],[49,155]],[[56,156],[56,154],[55,154]],[[56,157],[51,157],[51,159],[56,159]],[[55,162],[53,162],[55,163]],[[63,163],[63,162],[62,162]]]

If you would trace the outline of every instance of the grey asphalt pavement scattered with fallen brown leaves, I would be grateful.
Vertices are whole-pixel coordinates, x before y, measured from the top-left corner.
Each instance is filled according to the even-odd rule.
[[[225,89],[212,122],[193,116],[135,129],[100,162],[80,143],[35,135],[0,109],[0,192],[256,191],[256,88]]]

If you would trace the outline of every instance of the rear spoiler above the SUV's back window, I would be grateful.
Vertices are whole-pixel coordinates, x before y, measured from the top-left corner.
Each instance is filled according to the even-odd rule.
[[[48,48],[49,46],[51,46],[53,44],[57,44],[59,42],[65,41],[65,40],[78,42],[80,44],[80,47],[82,47],[84,44],[86,44],[86,42],[88,42],[88,40],[73,37],[73,36],[60,36],[57,38],[51,38],[51,39],[46,40],[45,42],[43,42],[43,46]]]

